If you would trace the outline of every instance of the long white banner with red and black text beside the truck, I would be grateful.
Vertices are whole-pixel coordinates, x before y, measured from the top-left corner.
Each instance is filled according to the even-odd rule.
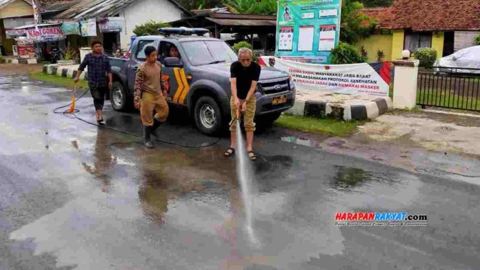
[[[337,94],[373,96],[388,96],[390,90],[390,63],[319,65],[272,56],[262,56],[259,62],[263,65],[272,63],[272,58],[275,68],[292,75],[298,90],[327,90]],[[382,78],[380,70],[388,74],[388,79]]]

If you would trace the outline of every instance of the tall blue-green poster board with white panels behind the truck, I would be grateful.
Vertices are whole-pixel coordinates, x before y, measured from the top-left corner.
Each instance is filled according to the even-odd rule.
[[[330,63],[339,43],[341,0],[280,0],[277,47],[281,59]]]

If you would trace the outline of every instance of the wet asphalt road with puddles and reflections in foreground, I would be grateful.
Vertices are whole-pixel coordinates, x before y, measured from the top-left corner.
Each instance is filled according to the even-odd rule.
[[[157,144],[52,114],[69,92],[0,76],[0,270],[480,269],[478,185],[257,135],[254,234],[228,141]],[[94,121],[90,98],[79,116]],[[179,113],[180,114],[180,113]],[[139,115],[108,127],[139,134]],[[214,141],[183,116],[157,133]],[[336,227],[337,211],[428,215],[428,227]]]

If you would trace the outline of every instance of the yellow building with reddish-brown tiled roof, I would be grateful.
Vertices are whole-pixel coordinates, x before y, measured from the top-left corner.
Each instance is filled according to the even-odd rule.
[[[378,21],[375,34],[357,43],[370,61],[379,50],[388,61],[422,47],[434,48],[441,58],[472,46],[480,34],[480,0],[394,0],[391,7],[362,12]]]

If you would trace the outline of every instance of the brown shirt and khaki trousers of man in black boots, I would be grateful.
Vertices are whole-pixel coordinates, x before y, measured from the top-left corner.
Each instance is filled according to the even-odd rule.
[[[169,109],[166,97],[163,96],[162,89],[166,90],[166,85],[161,81],[161,65],[148,65],[143,63],[139,66],[137,77],[135,78],[135,102],[141,102],[141,123],[152,126],[154,118],[161,122],[167,120]],[[153,115],[153,112],[157,112]]]

